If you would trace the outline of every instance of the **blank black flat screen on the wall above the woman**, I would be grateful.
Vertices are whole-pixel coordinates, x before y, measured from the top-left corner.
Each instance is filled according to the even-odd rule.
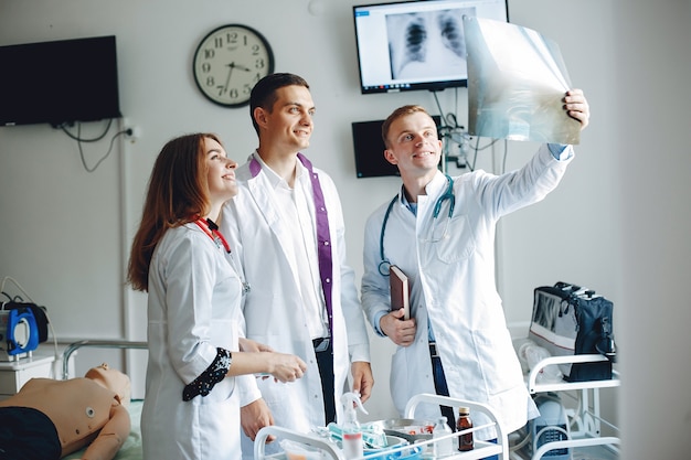
[[[119,118],[115,36],[0,46],[0,126]]]

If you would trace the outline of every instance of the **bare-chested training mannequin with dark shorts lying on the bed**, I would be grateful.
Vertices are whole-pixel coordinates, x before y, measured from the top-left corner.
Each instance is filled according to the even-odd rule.
[[[32,378],[0,400],[0,460],[53,460],[86,446],[84,460],[110,460],[130,429],[129,377],[102,364],[84,377]]]

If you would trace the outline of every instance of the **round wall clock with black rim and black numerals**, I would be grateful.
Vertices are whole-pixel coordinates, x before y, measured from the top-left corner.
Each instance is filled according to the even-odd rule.
[[[193,71],[194,82],[206,98],[225,107],[242,107],[249,104],[254,85],[274,72],[274,54],[254,29],[223,25],[200,42]]]

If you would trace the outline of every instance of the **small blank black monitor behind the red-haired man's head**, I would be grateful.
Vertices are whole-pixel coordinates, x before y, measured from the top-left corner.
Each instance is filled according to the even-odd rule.
[[[442,117],[433,115],[432,118],[439,128]],[[391,164],[384,158],[384,140],[382,139],[382,125],[384,120],[353,121],[353,149],[355,152],[355,172],[358,178],[381,178],[386,175],[401,175],[398,168]]]

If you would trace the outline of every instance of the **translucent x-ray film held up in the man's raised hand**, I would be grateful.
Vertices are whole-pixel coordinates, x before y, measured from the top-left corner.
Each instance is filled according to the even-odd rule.
[[[563,109],[571,82],[554,42],[533,30],[483,18],[464,18],[464,30],[470,135],[580,142],[581,124]]]

